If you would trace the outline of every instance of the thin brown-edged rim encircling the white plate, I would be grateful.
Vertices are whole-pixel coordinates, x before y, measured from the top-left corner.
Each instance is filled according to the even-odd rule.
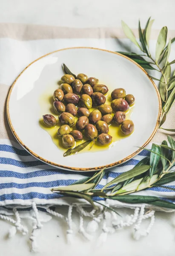
[[[69,50],[69,49],[95,49],[95,50],[100,50],[100,51],[105,51],[105,52],[110,52],[110,53],[113,53],[113,54],[116,54],[116,55],[120,55],[121,57],[123,58],[126,58],[128,59],[129,61],[131,61],[132,63],[134,63],[136,66],[138,66],[145,74],[146,76],[149,78],[149,80],[152,82],[152,85],[153,87],[155,88],[155,91],[157,93],[157,96],[158,96],[158,103],[159,103],[159,111],[158,111],[158,119],[156,121],[156,125],[155,125],[155,128],[151,134],[151,136],[148,138],[148,140],[146,140],[146,142],[142,145],[141,148],[138,148],[138,150],[136,150],[135,152],[133,152],[132,154],[130,154],[129,156],[123,158],[122,160],[118,160],[117,162],[115,163],[111,163],[111,164],[108,164],[106,166],[98,166],[98,167],[91,167],[91,168],[77,168],[77,167],[70,167],[70,166],[62,166],[60,164],[57,164],[57,163],[53,163],[51,161],[48,161],[46,159],[44,159],[43,157],[40,157],[39,155],[37,155],[36,153],[34,153],[30,148],[28,148],[23,142],[22,140],[20,140],[20,137],[18,137],[17,133],[15,132],[14,130],[14,127],[11,123],[11,119],[10,119],[10,113],[9,113],[9,100],[10,100],[10,96],[11,96],[11,92],[16,84],[16,81],[20,78],[20,76],[24,73],[24,71],[30,67],[34,62],[40,60],[41,58],[44,58],[50,54],[53,54],[55,52],[60,52],[60,51],[63,51],[63,50]],[[151,79],[151,77],[149,76],[149,74],[146,72],[146,70],[143,69],[143,67],[141,67],[138,63],[136,63],[135,61],[133,61],[132,59],[130,59],[129,57],[119,53],[119,52],[114,52],[114,51],[110,51],[110,50],[106,50],[106,49],[100,49],[100,48],[95,48],[95,47],[68,47],[68,48],[63,48],[63,49],[59,49],[59,50],[55,50],[53,52],[49,52],[37,59],[35,59],[34,61],[32,61],[29,65],[27,65],[27,67],[25,67],[25,69],[17,76],[17,78],[14,80],[13,84],[11,85],[10,89],[9,89],[9,92],[8,92],[8,95],[7,95],[7,99],[6,99],[6,115],[7,115],[7,119],[8,119],[8,122],[9,122],[9,126],[11,128],[11,131],[14,135],[14,137],[16,138],[16,140],[18,141],[18,143],[20,143],[20,145],[23,146],[23,148],[26,149],[26,151],[28,151],[30,154],[32,154],[35,158],[41,160],[42,162],[44,163],[47,163],[51,166],[55,166],[59,169],[65,169],[65,170],[69,170],[69,171],[80,171],[80,172],[92,172],[92,171],[97,171],[97,170],[100,170],[100,169],[103,169],[104,167],[106,167],[106,169],[108,168],[111,168],[111,167],[114,167],[114,166],[117,166],[121,163],[124,163],[126,161],[128,161],[129,159],[131,159],[132,157],[135,157],[135,155],[137,155],[139,152],[141,152],[143,150],[143,148],[146,147],[146,145],[148,145],[148,143],[152,140],[152,138],[154,137],[156,131],[158,130],[158,127],[159,127],[159,123],[161,122],[161,113],[162,113],[162,105],[161,105],[161,96],[160,96],[160,93],[158,91],[158,87],[156,86],[155,82]]]

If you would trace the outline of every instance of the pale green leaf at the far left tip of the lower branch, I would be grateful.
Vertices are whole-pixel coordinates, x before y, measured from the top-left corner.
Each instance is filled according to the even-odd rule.
[[[57,188],[51,189],[51,191],[83,191],[91,189],[95,183],[86,183],[86,184],[73,184],[69,186],[58,186]]]

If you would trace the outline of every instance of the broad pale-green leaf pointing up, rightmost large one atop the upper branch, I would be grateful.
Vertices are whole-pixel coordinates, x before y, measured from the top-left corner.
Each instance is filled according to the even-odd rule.
[[[158,35],[158,40],[157,40],[156,49],[155,49],[155,61],[156,62],[158,62],[158,59],[166,45],[167,31],[168,31],[167,27],[164,26]]]

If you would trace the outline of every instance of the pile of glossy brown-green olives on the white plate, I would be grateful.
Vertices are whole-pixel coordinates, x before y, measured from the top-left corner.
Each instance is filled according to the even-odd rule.
[[[126,95],[123,88],[113,90],[110,106],[105,104],[108,87],[98,84],[95,77],[78,74],[75,79],[66,74],[61,81],[60,88],[53,93],[53,107],[61,124],[57,135],[62,138],[65,148],[74,147],[75,141],[81,141],[83,137],[86,140],[97,139],[99,145],[108,145],[112,141],[112,136],[108,134],[112,122],[120,125],[123,134],[132,133],[134,124],[126,120],[125,113],[135,102],[132,94]],[[95,110],[90,111],[92,105]],[[78,116],[77,122],[75,116]],[[57,124],[55,116],[51,114],[44,115],[43,122],[50,127]]]

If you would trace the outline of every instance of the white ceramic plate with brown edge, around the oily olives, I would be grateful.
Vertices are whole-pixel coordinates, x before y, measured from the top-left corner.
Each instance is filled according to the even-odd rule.
[[[73,73],[85,73],[110,84],[110,90],[125,88],[135,96],[132,120],[134,133],[106,151],[81,153],[63,157],[44,131],[41,118],[40,96],[49,87],[57,87],[63,76],[62,63]],[[91,171],[116,166],[129,160],[146,146],[158,129],[161,99],[158,89],[148,74],[134,61],[115,52],[94,48],[69,48],[51,52],[29,64],[12,85],[7,99],[7,116],[18,142],[34,157],[58,168]]]

